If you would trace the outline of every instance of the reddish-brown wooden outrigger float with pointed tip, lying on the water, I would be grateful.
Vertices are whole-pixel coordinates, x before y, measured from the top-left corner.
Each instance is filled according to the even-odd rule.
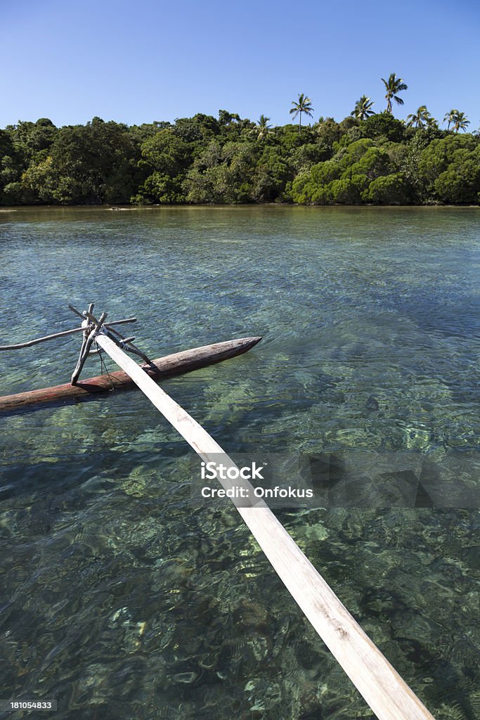
[[[261,338],[237,338],[237,340],[227,340],[223,343],[204,345],[199,348],[166,355],[163,358],[153,360],[151,366],[143,364],[141,367],[158,382],[167,377],[181,375],[241,355],[260,341]],[[18,392],[16,395],[4,395],[0,397],[0,411],[17,410],[25,405],[44,402],[84,400],[98,392],[108,392],[112,389],[122,390],[125,387],[134,386],[135,383],[127,373],[118,370],[106,375],[89,377],[89,379],[82,380],[76,385],[65,383],[54,387],[43,387],[41,390]]]

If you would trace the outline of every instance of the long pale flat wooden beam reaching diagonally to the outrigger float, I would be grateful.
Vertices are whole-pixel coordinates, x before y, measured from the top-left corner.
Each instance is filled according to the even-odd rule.
[[[127,356],[101,329],[96,344],[126,372],[148,400],[176,428],[205,462],[236,467],[209,433],[175,400],[166,394],[148,374]],[[230,480],[217,479],[228,490]],[[236,485],[238,482],[236,481]],[[253,486],[243,480],[242,485]],[[237,507],[237,505],[235,505]],[[314,629],[345,670],[379,720],[434,720],[409,685],[394,670],[384,654],[361,629],[343,603],[314,568],[309,559],[273,515],[259,500],[253,507],[237,507],[266,557],[302,609]]]

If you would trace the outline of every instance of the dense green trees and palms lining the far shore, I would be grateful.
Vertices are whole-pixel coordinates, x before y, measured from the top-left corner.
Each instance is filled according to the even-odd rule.
[[[391,104],[402,81],[385,84]],[[225,110],[132,127],[19,122],[0,130],[0,204],[480,202],[480,138],[459,134],[463,113],[440,130],[425,106],[405,124],[371,104],[309,126]],[[309,98],[292,110],[308,116]]]

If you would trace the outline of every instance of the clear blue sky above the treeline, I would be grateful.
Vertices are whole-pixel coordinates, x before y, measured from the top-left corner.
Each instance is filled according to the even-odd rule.
[[[98,115],[129,125],[220,108],[274,125],[312,98],[341,120],[361,94],[385,107],[381,77],[409,86],[440,120],[480,125],[480,3],[445,0],[2,0],[0,127]]]

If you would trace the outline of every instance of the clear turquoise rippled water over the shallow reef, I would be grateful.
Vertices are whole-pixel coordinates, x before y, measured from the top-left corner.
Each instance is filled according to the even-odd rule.
[[[136,315],[154,357],[262,335],[163,387],[232,453],[353,457],[361,507],[277,515],[436,717],[480,717],[478,209],[23,209],[0,243],[0,344],[76,325],[68,302]],[[67,382],[78,346],[1,353],[1,394]],[[192,508],[192,452],[140,393],[0,428],[0,698],[372,717],[235,508]],[[371,502],[382,462],[417,507]]]

